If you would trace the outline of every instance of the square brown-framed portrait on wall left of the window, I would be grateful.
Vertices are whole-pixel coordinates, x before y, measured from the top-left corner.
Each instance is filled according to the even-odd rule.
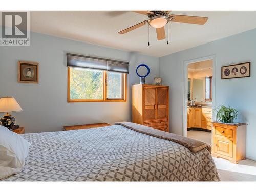
[[[38,83],[38,62],[18,61],[18,82]]]

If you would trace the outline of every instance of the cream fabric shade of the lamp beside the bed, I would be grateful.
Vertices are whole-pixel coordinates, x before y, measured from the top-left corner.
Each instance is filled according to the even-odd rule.
[[[23,111],[18,102],[13,97],[0,98],[0,112],[18,112]]]

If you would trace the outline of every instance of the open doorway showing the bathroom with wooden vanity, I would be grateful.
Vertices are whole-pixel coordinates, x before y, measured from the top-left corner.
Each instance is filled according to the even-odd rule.
[[[215,56],[184,62],[183,136],[211,145]]]

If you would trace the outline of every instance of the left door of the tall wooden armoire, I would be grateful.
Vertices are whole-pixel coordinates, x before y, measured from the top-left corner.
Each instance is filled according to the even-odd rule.
[[[156,119],[156,88],[144,88],[144,120]]]

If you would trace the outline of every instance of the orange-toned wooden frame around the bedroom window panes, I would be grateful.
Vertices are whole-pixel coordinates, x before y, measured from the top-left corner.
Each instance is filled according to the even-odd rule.
[[[108,86],[108,71],[103,70],[103,99],[70,99],[70,68],[68,67],[68,102],[126,102],[127,101],[127,74],[122,74],[123,82],[123,99],[108,99],[107,86]]]

